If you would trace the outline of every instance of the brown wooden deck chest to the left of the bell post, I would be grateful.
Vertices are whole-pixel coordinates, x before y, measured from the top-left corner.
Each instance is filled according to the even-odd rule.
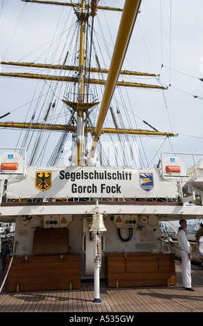
[[[19,291],[46,291],[80,289],[80,285],[80,254],[16,256],[6,279],[7,292],[17,287]]]

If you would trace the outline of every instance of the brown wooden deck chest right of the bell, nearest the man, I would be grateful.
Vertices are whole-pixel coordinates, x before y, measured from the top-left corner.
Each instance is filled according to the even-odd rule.
[[[107,286],[175,285],[175,258],[172,253],[106,253]]]

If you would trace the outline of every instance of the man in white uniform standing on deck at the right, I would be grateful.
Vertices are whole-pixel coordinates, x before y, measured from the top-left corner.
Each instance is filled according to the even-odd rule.
[[[184,284],[184,288],[188,291],[194,291],[191,286],[191,252],[190,252],[190,244],[188,243],[188,239],[186,236],[186,232],[184,229],[187,227],[187,222],[182,218],[179,221],[180,228],[177,232],[177,241],[179,244],[179,248],[181,250],[182,256],[182,280]]]

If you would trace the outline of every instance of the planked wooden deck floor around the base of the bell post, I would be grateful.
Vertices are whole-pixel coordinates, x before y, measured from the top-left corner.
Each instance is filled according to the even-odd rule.
[[[0,312],[73,312],[100,314],[134,314],[136,312],[203,312],[203,268],[192,265],[194,292],[182,286],[181,263],[176,261],[175,286],[107,288],[100,282],[101,303],[94,303],[94,283],[82,283],[72,291],[35,291],[0,293]],[[2,272],[1,272],[2,273]],[[5,273],[5,272],[3,272]],[[3,273],[0,281],[3,280]],[[100,313],[100,314],[98,314]]]

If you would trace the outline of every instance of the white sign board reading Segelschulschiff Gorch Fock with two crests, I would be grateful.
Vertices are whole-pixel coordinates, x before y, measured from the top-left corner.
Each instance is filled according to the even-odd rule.
[[[158,169],[28,166],[24,180],[8,180],[7,198],[176,198],[176,180]]]

